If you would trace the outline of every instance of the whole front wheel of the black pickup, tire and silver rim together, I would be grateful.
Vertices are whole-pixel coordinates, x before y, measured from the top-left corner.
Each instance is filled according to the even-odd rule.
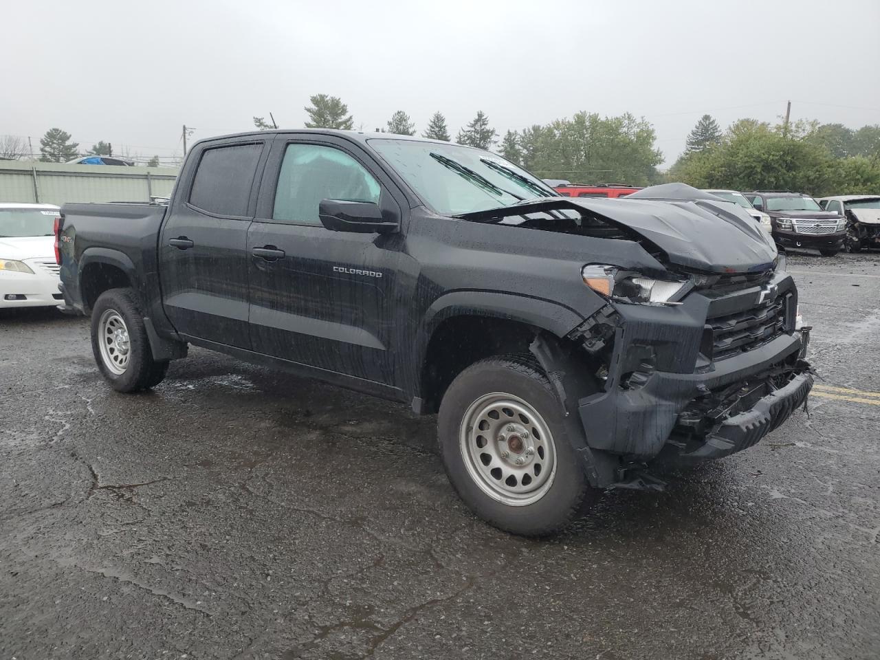
[[[557,532],[596,492],[564,418],[532,360],[501,356],[474,363],[452,381],[438,417],[452,487],[474,513],[506,532]]]

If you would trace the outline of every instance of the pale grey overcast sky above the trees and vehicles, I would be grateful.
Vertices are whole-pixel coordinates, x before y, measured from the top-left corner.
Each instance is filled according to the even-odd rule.
[[[880,123],[880,0],[543,3],[76,0],[4,3],[0,135],[70,132],[133,154],[253,128],[299,128],[310,95],[356,128],[398,109],[452,136],[477,110],[500,133],[631,112],[666,165],[703,113]]]

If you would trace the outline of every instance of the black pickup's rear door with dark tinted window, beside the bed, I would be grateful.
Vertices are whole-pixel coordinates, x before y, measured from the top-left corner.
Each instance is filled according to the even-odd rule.
[[[187,338],[250,348],[247,230],[267,140],[198,149],[159,237],[165,312]]]

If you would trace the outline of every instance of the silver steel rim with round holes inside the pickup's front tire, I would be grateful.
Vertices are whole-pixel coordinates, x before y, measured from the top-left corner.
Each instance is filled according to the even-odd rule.
[[[553,436],[538,412],[513,394],[475,400],[462,417],[461,457],[486,495],[526,506],[546,495],[556,474]]]

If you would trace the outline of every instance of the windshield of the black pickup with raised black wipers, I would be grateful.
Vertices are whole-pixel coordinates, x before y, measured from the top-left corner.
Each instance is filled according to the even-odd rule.
[[[422,200],[444,216],[556,197],[553,188],[488,151],[415,140],[370,140],[370,146]]]

